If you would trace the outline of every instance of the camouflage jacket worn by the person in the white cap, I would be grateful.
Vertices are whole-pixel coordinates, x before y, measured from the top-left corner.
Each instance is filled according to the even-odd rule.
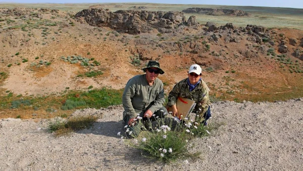
[[[176,105],[177,98],[183,97],[196,102],[196,106],[193,113],[197,114],[195,121],[202,122],[204,120],[203,115],[207,111],[208,106],[211,104],[209,98],[210,89],[207,84],[201,79],[200,83],[189,92],[189,85],[187,84],[187,79],[185,78],[178,82],[173,90],[168,95],[168,106]]]

